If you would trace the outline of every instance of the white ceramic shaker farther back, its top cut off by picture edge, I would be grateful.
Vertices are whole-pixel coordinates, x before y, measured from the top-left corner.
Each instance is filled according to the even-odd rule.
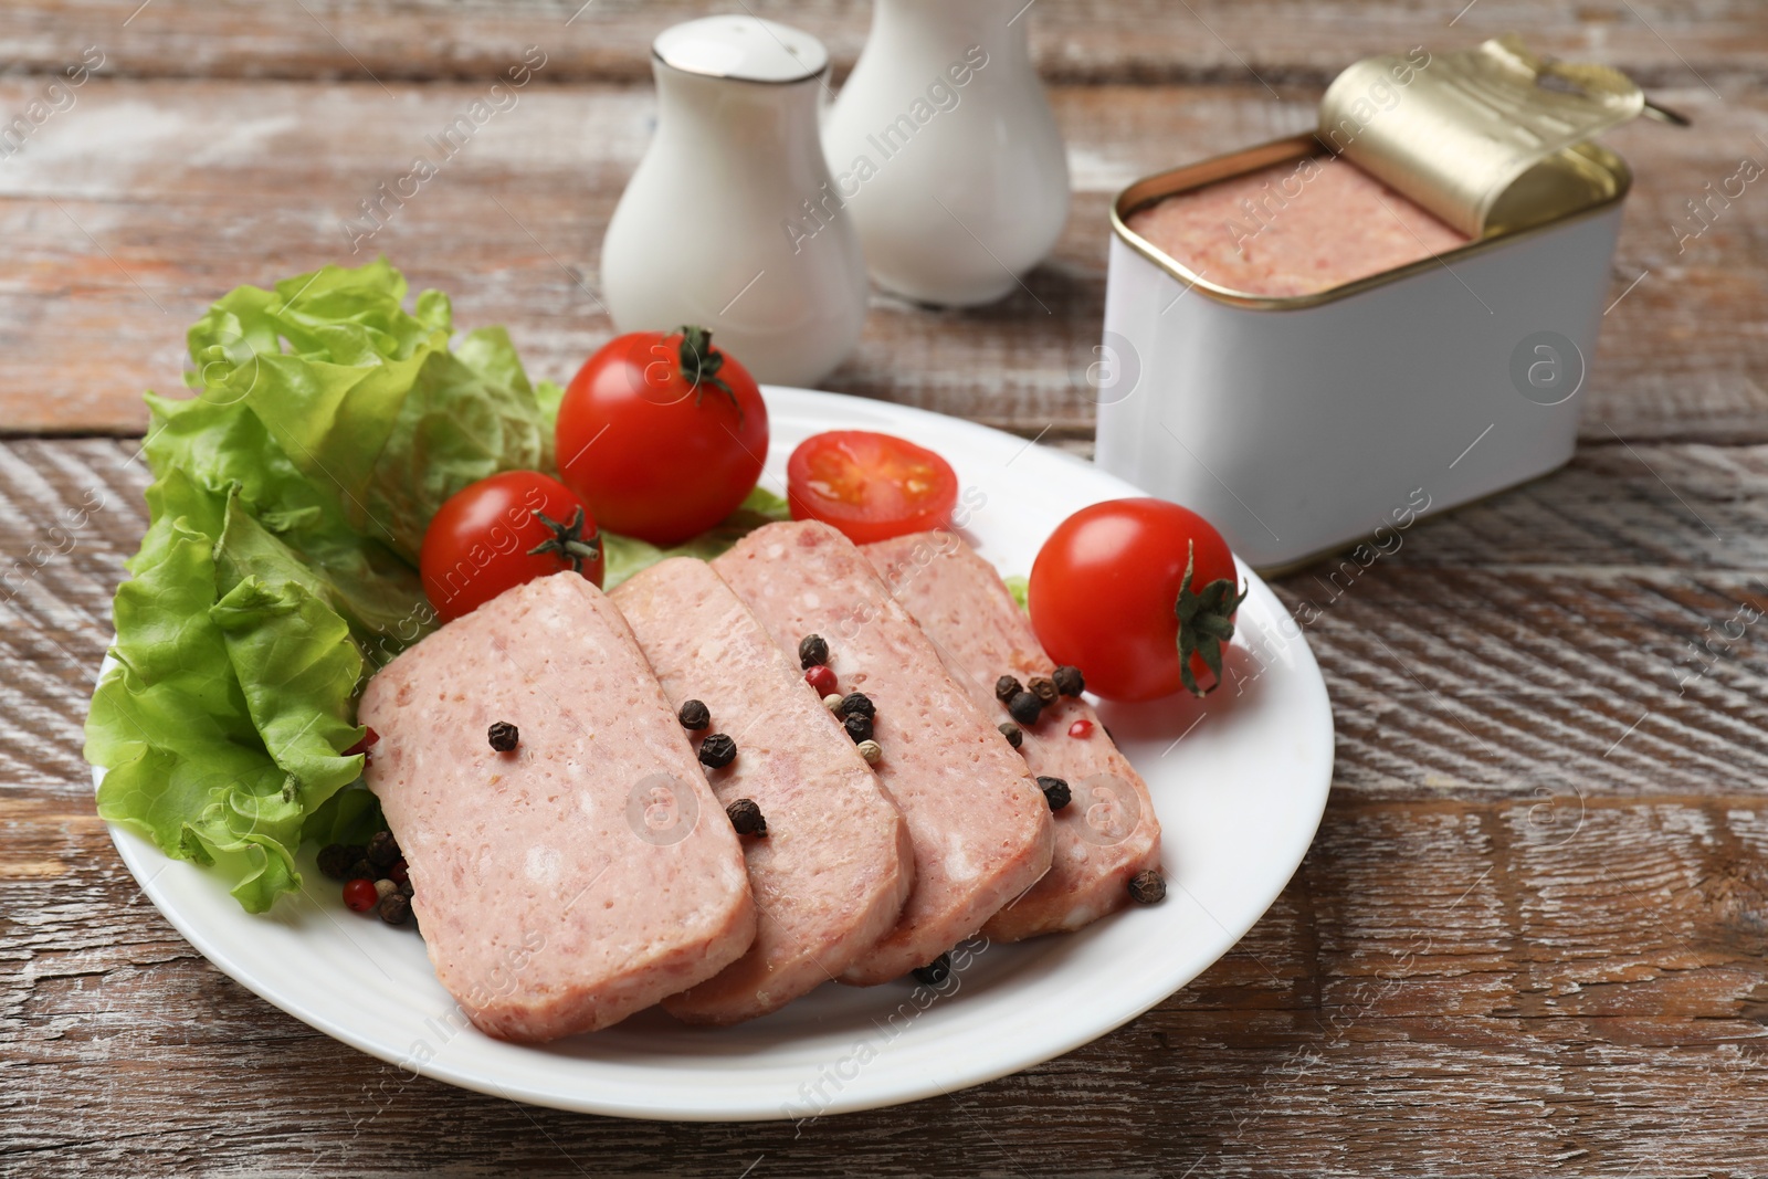
[[[875,0],[822,145],[872,278],[994,302],[1068,219],[1068,159],[1025,49],[1025,0]]]

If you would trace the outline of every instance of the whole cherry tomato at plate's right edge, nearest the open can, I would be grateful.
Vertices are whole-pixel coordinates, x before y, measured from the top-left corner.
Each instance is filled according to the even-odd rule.
[[[1213,691],[1245,597],[1222,534],[1167,500],[1082,507],[1031,566],[1038,640],[1110,700]]]

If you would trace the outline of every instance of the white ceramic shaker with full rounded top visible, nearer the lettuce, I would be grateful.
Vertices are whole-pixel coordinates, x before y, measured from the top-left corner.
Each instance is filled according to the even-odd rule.
[[[831,187],[817,138],[829,53],[753,16],[711,16],[652,42],[658,127],[601,242],[622,332],[698,323],[757,380],[808,385],[866,315],[847,217],[792,232]]]

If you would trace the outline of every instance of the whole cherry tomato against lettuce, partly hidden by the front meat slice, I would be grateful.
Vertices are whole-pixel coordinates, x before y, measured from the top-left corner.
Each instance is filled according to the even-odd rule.
[[[583,500],[537,470],[506,470],[451,495],[417,555],[444,622],[560,569],[601,585],[601,534]]]

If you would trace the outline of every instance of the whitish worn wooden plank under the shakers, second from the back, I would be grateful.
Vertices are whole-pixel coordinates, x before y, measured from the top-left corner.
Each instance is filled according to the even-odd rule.
[[[37,87],[0,83],[0,110]],[[350,260],[345,219],[410,171],[414,154],[433,152],[428,136],[484,87],[389,90],[87,83],[0,166],[0,431],[140,431],[140,389],[177,389],[184,329],[209,300]],[[1077,189],[1055,256],[994,308],[930,311],[875,295],[857,354],[827,387],[1089,437],[1084,375],[1103,316],[1110,198],[1147,171],[1312,118],[1308,101],[1278,103],[1257,87],[1054,97]],[[1665,101],[1697,127],[1637,124],[1611,136],[1639,180],[1614,267],[1618,302],[1581,394],[1586,437],[1768,440],[1768,258],[1754,247],[1768,202],[1752,187],[1699,237],[1674,228],[1692,224],[1683,203],[1731,177],[1740,156],[1768,161],[1768,97],[1720,103],[1694,88]],[[382,232],[357,239],[354,256],[387,251],[414,285],[447,288],[460,323],[507,323],[536,375],[568,378],[612,332],[594,293],[601,235],[652,113],[649,88],[532,87]]]

